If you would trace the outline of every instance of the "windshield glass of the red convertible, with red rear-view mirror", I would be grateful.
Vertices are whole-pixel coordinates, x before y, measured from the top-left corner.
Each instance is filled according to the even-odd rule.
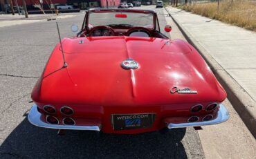
[[[125,15],[118,17],[118,15]],[[152,13],[138,12],[91,12],[89,24],[92,26],[142,26],[154,28]]]

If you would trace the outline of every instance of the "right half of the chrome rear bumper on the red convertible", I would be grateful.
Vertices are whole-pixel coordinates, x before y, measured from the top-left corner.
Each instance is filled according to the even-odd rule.
[[[200,127],[204,125],[219,124],[221,122],[226,122],[228,118],[229,118],[228,110],[223,104],[219,104],[218,116],[214,120],[205,121],[205,122],[186,122],[186,123],[179,123],[179,124],[169,123],[167,124],[167,127],[168,129],[183,128],[183,127]]]

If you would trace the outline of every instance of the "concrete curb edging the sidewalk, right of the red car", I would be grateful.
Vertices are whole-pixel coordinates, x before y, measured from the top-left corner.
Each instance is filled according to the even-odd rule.
[[[199,51],[205,62],[212,69],[215,77],[218,79],[219,83],[225,88],[228,94],[228,100],[231,102],[235,111],[239,114],[240,118],[243,120],[246,127],[249,129],[250,133],[256,138],[256,102],[250,97],[250,95],[233,79],[225,69],[208,53],[201,44],[192,37],[188,30],[185,30],[179,21],[172,17],[169,10],[165,8],[170,17],[173,19],[174,23],[181,30],[185,39],[188,40],[196,50]]]

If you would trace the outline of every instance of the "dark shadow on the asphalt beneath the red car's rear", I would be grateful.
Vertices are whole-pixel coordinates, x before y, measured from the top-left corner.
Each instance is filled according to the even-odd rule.
[[[137,135],[66,131],[60,136],[26,118],[1,144],[0,158],[187,158],[181,143],[185,131]]]

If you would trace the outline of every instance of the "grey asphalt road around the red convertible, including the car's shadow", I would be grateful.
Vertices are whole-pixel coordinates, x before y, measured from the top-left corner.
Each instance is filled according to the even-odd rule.
[[[157,12],[163,30],[166,15],[163,9]],[[62,37],[73,36],[71,24],[82,26],[83,17],[81,12],[58,20]],[[204,158],[193,128],[138,135],[67,131],[60,136],[30,124],[30,93],[58,42],[55,25],[44,21],[0,28],[0,158]]]

